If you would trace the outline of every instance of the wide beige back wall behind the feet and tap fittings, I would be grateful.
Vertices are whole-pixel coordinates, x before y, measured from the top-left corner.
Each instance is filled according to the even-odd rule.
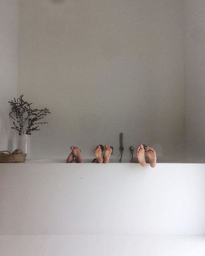
[[[90,158],[98,143],[183,157],[183,1],[20,0],[18,94],[48,107],[32,157]]]

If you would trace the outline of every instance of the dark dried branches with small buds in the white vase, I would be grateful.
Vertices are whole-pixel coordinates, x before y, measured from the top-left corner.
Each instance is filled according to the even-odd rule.
[[[11,106],[9,116],[13,119],[13,127],[11,128],[17,130],[19,135],[31,134],[32,131],[40,130],[39,125],[48,122],[39,122],[39,120],[51,113],[46,107],[44,109],[32,109],[32,103],[28,103],[22,98],[23,94],[19,98],[8,101]]]

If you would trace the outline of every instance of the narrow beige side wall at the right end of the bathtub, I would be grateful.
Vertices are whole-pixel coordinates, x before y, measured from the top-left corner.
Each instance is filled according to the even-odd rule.
[[[187,157],[205,159],[205,1],[187,0],[185,10]]]

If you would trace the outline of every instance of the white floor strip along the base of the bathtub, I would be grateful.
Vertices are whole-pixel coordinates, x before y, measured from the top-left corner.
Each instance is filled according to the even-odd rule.
[[[197,235],[8,235],[0,256],[204,256]]]

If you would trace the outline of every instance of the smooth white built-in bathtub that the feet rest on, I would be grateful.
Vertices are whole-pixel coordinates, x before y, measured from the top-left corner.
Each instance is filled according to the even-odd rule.
[[[62,161],[0,164],[0,234],[8,243],[12,235],[22,243],[23,236],[26,243],[31,236],[63,235],[77,246],[90,236],[128,241],[130,236],[205,234],[205,164],[158,163],[152,169]],[[46,255],[42,252],[32,255]]]

